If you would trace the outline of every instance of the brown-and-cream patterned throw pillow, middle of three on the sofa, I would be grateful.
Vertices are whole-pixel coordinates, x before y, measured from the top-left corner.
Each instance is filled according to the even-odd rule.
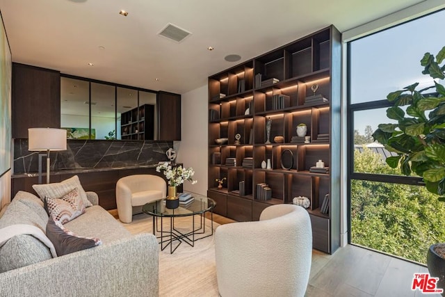
[[[85,205],[79,196],[79,191],[74,188],[60,199],[46,198],[44,200],[48,215],[53,216],[55,220],[65,224],[77,218],[85,212]]]

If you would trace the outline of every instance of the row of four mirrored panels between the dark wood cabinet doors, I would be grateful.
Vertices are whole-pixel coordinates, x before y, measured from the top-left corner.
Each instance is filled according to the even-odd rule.
[[[156,140],[156,92],[62,76],[60,125],[69,139]]]

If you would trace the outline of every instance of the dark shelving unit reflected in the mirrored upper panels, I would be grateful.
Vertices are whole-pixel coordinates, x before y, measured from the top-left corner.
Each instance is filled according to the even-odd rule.
[[[121,113],[121,139],[154,140],[154,105],[144,104]]]

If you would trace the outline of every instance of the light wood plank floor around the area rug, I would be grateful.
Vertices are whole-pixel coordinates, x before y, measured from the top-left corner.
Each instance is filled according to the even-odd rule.
[[[118,218],[118,211],[110,213]],[[220,225],[234,222],[218,214],[213,214],[213,220]],[[132,233],[142,232],[138,225],[126,227]],[[428,268],[352,245],[339,248],[334,255],[314,250],[305,296],[423,296],[420,291],[411,290],[414,273],[428,273]]]

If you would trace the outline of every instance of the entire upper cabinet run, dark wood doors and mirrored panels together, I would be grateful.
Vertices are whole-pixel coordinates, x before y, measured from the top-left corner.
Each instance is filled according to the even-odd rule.
[[[178,94],[13,63],[12,97],[13,138],[28,138],[28,128],[61,127],[72,139],[181,139]]]

